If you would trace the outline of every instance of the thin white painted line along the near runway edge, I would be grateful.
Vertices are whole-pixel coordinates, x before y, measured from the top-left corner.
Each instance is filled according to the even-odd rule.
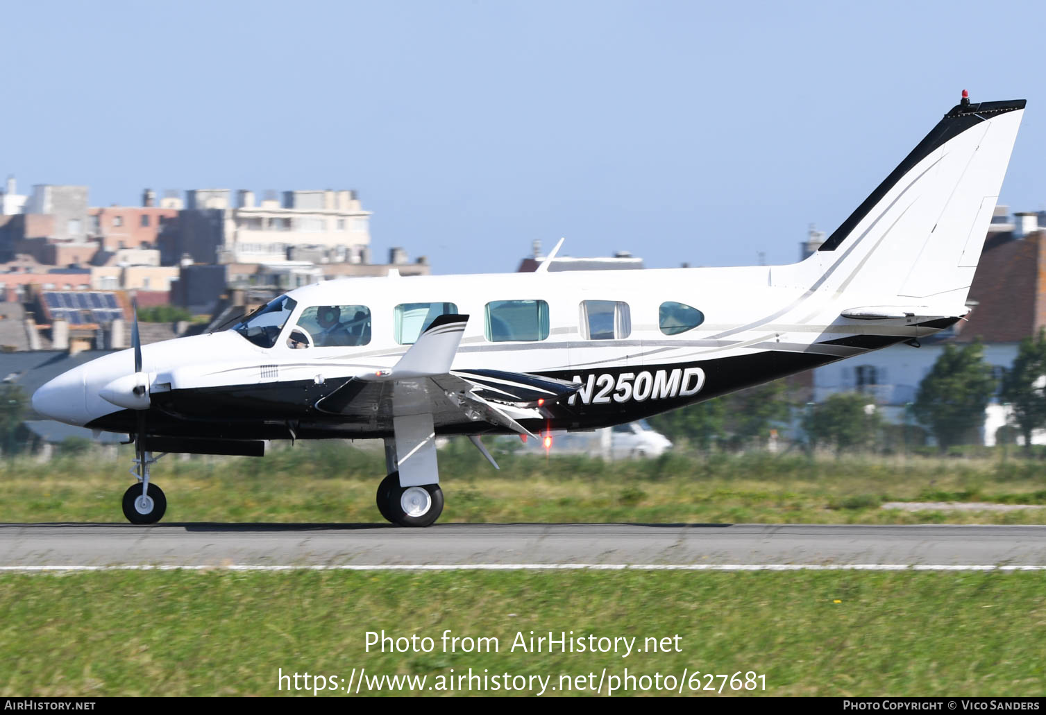
[[[376,563],[263,566],[0,566],[0,572],[77,571],[1046,571],[1046,566],[907,563]]]

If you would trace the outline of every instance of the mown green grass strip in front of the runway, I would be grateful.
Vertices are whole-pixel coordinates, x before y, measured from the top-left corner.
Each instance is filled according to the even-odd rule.
[[[0,577],[0,695],[274,695],[348,677],[755,671],[769,695],[1041,695],[1042,573],[99,572]],[[368,630],[497,653],[365,652]],[[681,652],[509,652],[518,631]],[[431,684],[432,681],[430,679]],[[365,692],[364,688],[361,690]],[[702,693],[706,694],[706,693]]]

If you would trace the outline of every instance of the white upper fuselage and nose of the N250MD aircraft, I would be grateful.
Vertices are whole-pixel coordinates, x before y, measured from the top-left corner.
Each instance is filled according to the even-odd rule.
[[[647,271],[599,271],[519,273],[505,275],[418,276],[351,278],[327,281],[291,291],[297,305],[272,347],[249,342],[235,331],[224,330],[146,345],[142,348],[142,371],[149,375],[154,395],[164,391],[221,390],[230,386],[275,386],[302,382],[327,382],[390,369],[410,347],[395,340],[396,306],[410,303],[453,303],[469,315],[464,336],[453,369],[497,369],[522,373],[559,374],[588,386],[574,402],[589,401],[628,407],[636,401],[624,385],[644,371],[685,371],[708,361],[718,365],[728,359],[767,351],[812,358],[797,363],[799,369],[861,351],[860,348],[817,343],[854,335],[902,338],[926,336],[929,328],[904,320],[845,320],[841,310],[852,304],[877,302],[852,294],[845,300],[828,292],[809,291],[799,284],[799,267],[698,268]],[[881,298],[881,296],[880,296]],[[543,340],[493,342],[486,331],[486,306],[494,301],[542,300],[548,305],[548,337]],[[614,301],[628,306],[627,337],[586,339],[583,301]],[[659,324],[662,303],[673,301],[692,306],[704,320],[692,329],[665,335]],[[366,306],[370,313],[370,338],[366,345],[292,348],[288,338],[299,317],[318,305]],[[895,341],[894,341],[895,342]],[[35,397],[38,411],[73,424],[92,424],[121,408],[101,397],[101,390],[132,370],[130,350],[99,358],[55,378]],[[792,363],[789,363],[792,365]],[[626,371],[627,370],[627,371]],[[622,383],[621,374],[627,377]],[[682,395],[695,401],[705,394],[721,394],[735,387],[737,377],[719,384],[715,370],[701,386],[701,393]],[[789,370],[747,376],[753,384],[772,379]],[[794,370],[791,370],[794,371]],[[569,375],[567,373],[570,373]],[[610,378],[604,377],[610,375]],[[684,374],[681,373],[679,379]],[[655,373],[640,378],[637,396],[647,401],[642,414],[657,409],[659,392],[653,390]],[[601,380],[601,382],[600,382]],[[607,390],[608,382],[613,382]],[[676,387],[674,397],[690,391]],[[602,394],[600,394],[602,393]],[[628,399],[621,399],[629,394]],[[653,394],[651,394],[653,393]],[[664,402],[663,409],[678,406]],[[579,405],[578,405],[579,407]],[[639,414],[639,413],[636,413]],[[620,419],[634,418],[622,413]],[[264,415],[258,415],[264,418]],[[105,428],[104,428],[105,429]]]

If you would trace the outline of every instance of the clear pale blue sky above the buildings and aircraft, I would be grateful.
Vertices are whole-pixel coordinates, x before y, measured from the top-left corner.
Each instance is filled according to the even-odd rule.
[[[376,257],[515,270],[796,259],[963,88],[1027,98],[1003,185],[1046,208],[1042,3],[4,2],[0,174],[355,188]]]

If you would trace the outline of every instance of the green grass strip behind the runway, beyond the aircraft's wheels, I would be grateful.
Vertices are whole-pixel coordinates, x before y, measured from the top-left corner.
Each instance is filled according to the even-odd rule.
[[[516,442],[518,444],[518,442]],[[811,524],[1042,524],[1046,463],[1013,458],[932,459],[750,454],[605,463],[521,455],[499,442],[495,471],[468,442],[439,454],[451,522],[653,522]],[[0,462],[0,522],[121,522],[131,484],[119,461],[68,456],[48,464]],[[384,475],[380,451],[299,443],[263,459],[169,456],[153,479],[166,522],[374,522]],[[1034,504],[1011,512],[907,512],[885,502]]]

